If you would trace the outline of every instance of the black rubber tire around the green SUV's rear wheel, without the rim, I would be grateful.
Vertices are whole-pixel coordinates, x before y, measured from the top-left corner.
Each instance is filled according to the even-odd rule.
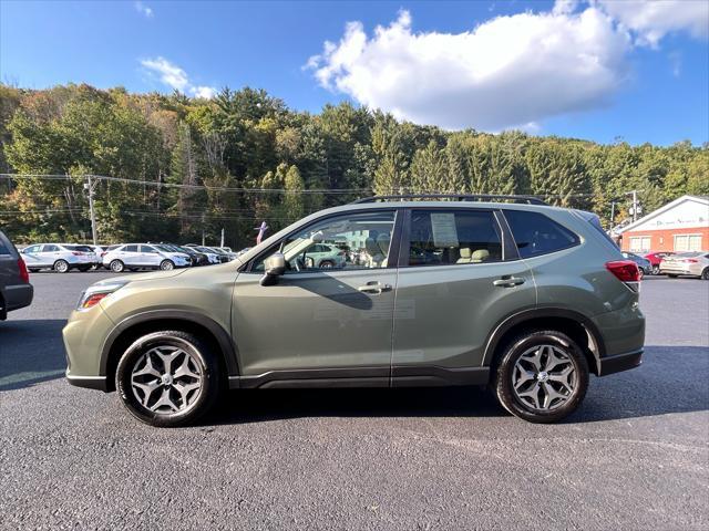
[[[566,402],[541,410],[523,402],[513,388],[515,364],[522,355],[535,346],[551,345],[565,354],[575,369],[574,389]],[[556,423],[567,417],[580,405],[588,389],[588,362],[578,345],[566,334],[554,330],[532,331],[517,335],[503,347],[492,382],[500,404],[511,414],[530,423]],[[567,362],[568,363],[568,362]],[[541,373],[540,373],[541,374]],[[540,375],[536,376],[537,382]],[[538,384],[535,384],[538,386]],[[538,397],[538,394],[537,394]],[[538,402],[538,399],[537,399]],[[552,400],[553,404],[553,400]]]

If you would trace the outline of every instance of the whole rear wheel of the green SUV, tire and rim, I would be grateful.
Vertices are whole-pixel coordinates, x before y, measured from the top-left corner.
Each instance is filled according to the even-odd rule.
[[[507,343],[493,385],[497,399],[513,415],[531,423],[555,423],[584,399],[588,362],[562,332],[527,332]]]

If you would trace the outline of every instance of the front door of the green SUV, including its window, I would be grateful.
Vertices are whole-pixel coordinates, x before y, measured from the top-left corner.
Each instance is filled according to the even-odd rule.
[[[317,371],[326,369],[327,379],[367,376],[364,385],[388,386],[397,288],[394,226],[393,209],[328,217],[255,259],[234,287],[232,333],[242,374],[306,371],[301,376],[320,377]],[[309,256],[318,243],[370,259],[319,268]],[[263,260],[279,249],[288,270],[277,284],[263,287]]]

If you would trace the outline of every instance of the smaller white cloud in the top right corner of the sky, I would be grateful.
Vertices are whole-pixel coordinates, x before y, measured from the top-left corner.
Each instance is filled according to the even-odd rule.
[[[678,31],[703,39],[709,34],[707,0],[597,0],[597,4],[635,33],[638,44],[656,48],[666,34]]]

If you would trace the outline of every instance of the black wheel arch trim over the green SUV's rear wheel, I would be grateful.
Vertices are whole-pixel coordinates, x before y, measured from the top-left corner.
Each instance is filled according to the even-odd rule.
[[[562,308],[525,310],[502,320],[485,343],[483,366],[492,366],[511,337],[527,330],[557,330],[573,339],[584,352],[590,372],[600,374],[606,350],[598,327],[585,315]]]

